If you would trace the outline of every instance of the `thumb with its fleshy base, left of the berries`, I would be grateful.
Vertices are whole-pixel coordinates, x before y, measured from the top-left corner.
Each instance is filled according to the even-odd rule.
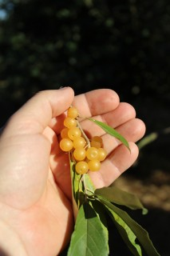
[[[42,136],[51,118],[73,102],[73,90],[45,90],[9,120],[0,143],[0,200],[26,209],[42,196],[49,170],[49,142]]]

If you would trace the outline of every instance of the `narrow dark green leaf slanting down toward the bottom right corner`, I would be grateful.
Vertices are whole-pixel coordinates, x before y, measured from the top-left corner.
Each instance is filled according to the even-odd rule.
[[[136,235],[136,238],[139,240],[141,246],[144,247],[144,250],[148,256],[160,256],[160,254],[156,251],[156,248],[153,246],[152,241],[148,236],[148,232],[144,230],[142,226],[135,222],[124,210],[114,206],[111,202],[103,198],[100,198],[100,201],[126,223],[129,229],[132,230],[132,232]],[[117,221],[117,219],[115,219],[115,221]]]

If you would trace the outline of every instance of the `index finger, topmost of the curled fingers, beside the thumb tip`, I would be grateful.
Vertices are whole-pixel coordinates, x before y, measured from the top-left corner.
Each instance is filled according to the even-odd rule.
[[[82,117],[92,117],[114,110],[119,105],[117,93],[109,89],[92,90],[74,98],[76,106]]]

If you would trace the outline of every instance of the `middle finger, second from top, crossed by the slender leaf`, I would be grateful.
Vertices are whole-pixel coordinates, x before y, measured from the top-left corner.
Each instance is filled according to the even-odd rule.
[[[128,122],[132,118],[136,117],[135,109],[126,102],[121,102],[119,106],[117,106],[116,110],[112,110],[108,113],[97,115],[93,117],[94,119],[105,122],[109,126],[116,128],[117,126],[121,126],[123,123]],[[89,120],[81,121],[82,128],[89,133],[89,136],[101,136],[105,134],[105,131],[101,129],[101,127],[97,126],[93,122]]]

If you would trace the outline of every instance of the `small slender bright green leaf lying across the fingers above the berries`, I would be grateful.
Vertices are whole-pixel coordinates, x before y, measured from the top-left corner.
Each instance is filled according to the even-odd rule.
[[[111,126],[106,125],[104,122],[97,121],[93,118],[88,118],[90,121],[95,122],[97,126],[100,126],[107,134],[112,135],[113,137],[119,139],[130,151],[130,147],[128,145],[127,140],[117,132],[117,130],[113,129]]]

